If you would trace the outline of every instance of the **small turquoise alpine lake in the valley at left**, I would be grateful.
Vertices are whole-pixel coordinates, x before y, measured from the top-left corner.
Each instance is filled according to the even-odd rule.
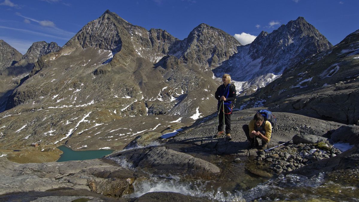
[[[115,150],[74,151],[64,145],[57,148],[62,152],[64,152],[61,154],[60,159],[57,160],[57,162],[98,159],[98,158],[102,158],[103,156],[109,155],[110,153],[115,151]]]

